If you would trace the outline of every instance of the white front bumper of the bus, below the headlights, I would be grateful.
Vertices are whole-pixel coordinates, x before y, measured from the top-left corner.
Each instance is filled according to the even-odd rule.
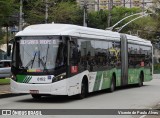
[[[61,80],[50,84],[26,84],[18,83],[11,79],[11,91],[13,93],[30,93],[30,91],[39,91],[39,94],[50,95],[68,95],[67,80]]]

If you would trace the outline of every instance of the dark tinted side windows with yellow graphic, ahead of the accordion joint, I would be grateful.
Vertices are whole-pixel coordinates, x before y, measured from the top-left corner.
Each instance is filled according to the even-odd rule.
[[[120,66],[120,42],[78,40],[79,67],[101,71]]]

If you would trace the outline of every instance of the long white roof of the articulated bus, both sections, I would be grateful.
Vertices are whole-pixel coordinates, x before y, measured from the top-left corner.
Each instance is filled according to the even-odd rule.
[[[85,37],[90,39],[103,40],[120,40],[120,33],[109,30],[94,29],[89,27],[71,25],[71,24],[37,24],[26,27],[16,36],[48,36],[48,35],[65,35],[74,37]],[[151,45],[150,41],[141,39],[136,36],[126,35],[128,42],[142,43]]]

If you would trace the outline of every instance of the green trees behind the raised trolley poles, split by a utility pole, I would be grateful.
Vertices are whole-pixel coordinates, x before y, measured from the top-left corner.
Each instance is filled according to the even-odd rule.
[[[126,7],[113,7],[111,10],[111,26],[120,21],[122,18],[140,12],[139,8],[126,8]],[[106,29],[108,27],[108,10],[93,11],[88,13],[88,26],[93,28]],[[130,19],[125,20],[124,22],[118,25],[122,26]]]

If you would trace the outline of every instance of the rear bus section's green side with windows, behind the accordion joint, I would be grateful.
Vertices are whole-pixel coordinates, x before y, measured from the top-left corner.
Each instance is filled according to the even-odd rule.
[[[152,79],[152,47],[129,43],[128,67],[128,84],[139,83],[142,73],[143,81],[150,81]]]

